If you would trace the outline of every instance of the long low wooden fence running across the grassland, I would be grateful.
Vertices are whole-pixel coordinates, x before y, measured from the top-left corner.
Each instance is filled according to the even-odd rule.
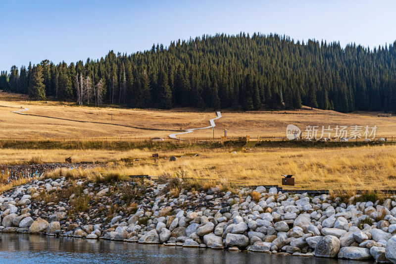
[[[331,142],[396,142],[396,136],[382,135],[375,138],[328,138],[328,139],[305,139],[297,138],[289,140],[285,136],[227,136],[227,137],[185,137],[181,140],[171,138],[148,138],[148,137],[102,137],[102,138],[28,138],[28,137],[0,137],[0,142],[39,142],[39,141],[56,141],[56,142],[224,142],[224,141],[331,141]]]

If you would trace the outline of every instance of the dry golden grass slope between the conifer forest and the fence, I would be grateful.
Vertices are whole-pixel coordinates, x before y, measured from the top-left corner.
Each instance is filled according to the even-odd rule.
[[[205,127],[209,119],[216,117],[214,111],[160,111],[126,109],[116,107],[76,106],[72,103],[35,102],[13,98],[20,95],[9,95],[0,92],[0,138],[113,138],[113,137],[163,137],[174,133],[170,130],[186,130]],[[3,107],[8,106],[8,107]],[[12,108],[17,107],[17,108]],[[29,116],[12,113],[21,107],[29,108],[26,113],[58,117],[78,121],[95,121],[109,124],[83,123],[40,116]],[[22,108],[22,109],[23,109]],[[186,110],[186,109],[178,109]],[[284,113],[286,112],[286,114]],[[312,114],[314,113],[314,114]],[[220,137],[227,129],[229,136],[285,136],[288,124],[295,124],[301,130],[307,125],[377,125],[378,136],[396,135],[396,117],[377,117],[377,113],[348,113],[347,116],[317,114],[336,113],[334,111],[310,110],[269,112],[222,112],[222,118],[215,121],[215,136]],[[111,120],[112,119],[112,120]],[[143,130],[112,124],[134,127],[162,129],[162,131]],[[212,129],[198,130],[181,136],[211,137]]]

